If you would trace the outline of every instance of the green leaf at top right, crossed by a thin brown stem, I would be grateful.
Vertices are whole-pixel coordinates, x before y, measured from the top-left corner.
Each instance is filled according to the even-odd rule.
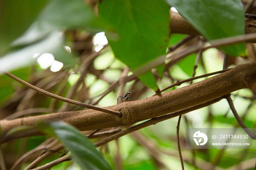
[[[241,0],[165,0],[206,39],[244,35],[244,7]],[[246,56],[245,43],[221,47],[233,56]]]

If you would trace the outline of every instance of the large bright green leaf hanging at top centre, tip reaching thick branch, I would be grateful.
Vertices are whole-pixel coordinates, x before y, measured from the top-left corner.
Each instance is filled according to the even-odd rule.
[[[169,42],[169,6],[162,0],[104,0],[98,4],[99,21],[116,58],[133,71],[166,53]],[[163,65],[158,67],[160,77]],[[139,76],[148,87],[158,89],[151,71]]]

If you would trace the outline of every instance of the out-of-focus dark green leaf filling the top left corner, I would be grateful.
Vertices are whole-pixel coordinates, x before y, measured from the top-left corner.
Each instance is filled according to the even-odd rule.
[[[10,48],[10,43],[23,34],[45,7],[47,0],[2,0],[0,9],[0,56]],[[26,10],[25,10],[26,9]]]

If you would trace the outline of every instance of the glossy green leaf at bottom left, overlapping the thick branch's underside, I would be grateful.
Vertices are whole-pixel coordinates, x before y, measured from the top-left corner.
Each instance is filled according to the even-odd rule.
[[[36,128],[56,136],[71,151],[74,161],[82,169],[112,169],[95,146],[75,127],[61,121],[49,121],[39,122]]]

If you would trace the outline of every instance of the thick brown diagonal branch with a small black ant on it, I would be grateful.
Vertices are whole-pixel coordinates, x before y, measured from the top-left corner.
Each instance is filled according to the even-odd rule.
[[[206,80],[152,96],[142,100],[129,101],[105,107],[120,111],[121,117],[108,113],[85,109],[51,113],[47,115],[22,117],[14,120],[0,120],[1,133],[6,134],[12,128],[33,126],[39,120],[61,120],[74,125],[81,131],[132,125],[136,122],[151,119],[175,112],[193,105],[210,101],[239,89],[248,88],[256,82],[256,61],[238,65],[233,69]],[[37,130],[22,131],[1,140],[6,142],[14,138],[42,135]]]

